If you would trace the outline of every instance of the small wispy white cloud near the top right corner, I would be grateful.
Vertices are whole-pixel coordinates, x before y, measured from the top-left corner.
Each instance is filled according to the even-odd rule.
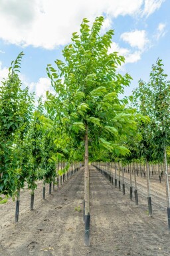
[[[165,0],[145,0],[142,16],[148,17],[159,9]]]

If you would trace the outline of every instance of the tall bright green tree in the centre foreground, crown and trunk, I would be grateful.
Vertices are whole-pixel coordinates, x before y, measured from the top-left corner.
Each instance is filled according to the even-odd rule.
[[[135,110],[126,107],[126,99],[118,94],[124,92],[131,76],[122,76],[116,68],[124,62],[118,53],[108,53],[112,45],[110,30],[100,35],[104,17],[97,17],[92,28],[84,19],[80,35],[72,34],[72,44],[62,51],[64,61],[56,60],[56,68],[47,66],[56,95],[48,93],[48,108],[56,111],[60,126],[78,144],[84,141],[84,203],[85,239],[89,245],[89,148],[103,147],[109,151],[129,152],[116,144],[119,134],[135,128]]]

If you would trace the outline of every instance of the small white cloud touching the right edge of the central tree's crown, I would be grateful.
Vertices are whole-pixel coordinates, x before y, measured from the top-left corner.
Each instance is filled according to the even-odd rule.
[[[108,53],[118,52],[119,55],[125,57],[125,64],[127,63],[136,63],[141,59],[141,51],[131,51],[126,48],[120,47],[117,43],[112,43],[110,51]],[[123,65],[123,64],[122,64]]]

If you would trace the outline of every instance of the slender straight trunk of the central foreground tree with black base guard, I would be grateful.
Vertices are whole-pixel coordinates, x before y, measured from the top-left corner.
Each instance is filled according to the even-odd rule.
[[[88,125],[85,135],[85,164],[84,164],[84,245],[90,246],[90,198],[89,198],[89,169],[88,169]]]

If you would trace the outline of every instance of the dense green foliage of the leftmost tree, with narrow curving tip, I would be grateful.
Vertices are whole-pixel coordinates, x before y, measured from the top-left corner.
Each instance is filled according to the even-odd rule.
[[[23,188],[25,177],[24,140],[31,122],[34,95],[28,88],[22,90],[19,69],[21,52],[11,63],[9,74],[0,87],[0,193],[14,195]]]

